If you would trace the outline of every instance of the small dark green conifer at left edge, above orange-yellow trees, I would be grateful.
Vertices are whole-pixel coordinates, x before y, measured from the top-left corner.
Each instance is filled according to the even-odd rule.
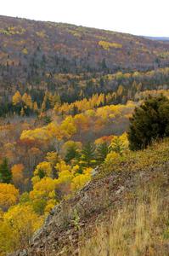
[[[0,165],[0,180],[2,183],[10,183],[12,180],[12,172],[8,168],[7,158],[3,158],[3,162]]]

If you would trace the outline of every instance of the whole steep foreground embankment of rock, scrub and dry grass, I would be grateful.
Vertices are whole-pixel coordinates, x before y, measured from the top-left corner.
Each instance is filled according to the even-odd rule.
[[[152,197],[149,191],[156,191],[156,194],[153,193]],[[140,206],[142,210],[144,206],[146,207],[143,214],[138,218],[138,213],[134,211],[140,195],[143,195],[142,203],[136,209],[138,211]],[[157,205],[156,200],[153,201],[152,198],[156,198],[158,195],[161,196]],[[141,253],[137,255],[168,255],[168,139],[162,143],[155,143],[152,147],[143,151],[129,152],[127,156],[105,164],[99,170],[99,173],[93,177],[91,183],[88,183],[75,196],[54,208],[42,229],[32,238],[28,250],[15,255],[101,256],[104,255],[104,251],[111,253],[110,255],[121,255],[110,251],[110,235],[108,237],[109,242],[105,239],[103,245],[105,250],[103,250],[103,247],[99,248],[99,251],[95,250],[97,240],[89,241],[89,247],[85,247],[85,249],[83,247],[80,252],[78,247],[83,243],[86,244],[87,238],[94,234],[96,237],[103,236],[106,232],[100,232],[97,226],[103,222],[104,225],[108,224],[110,218],[116,216],[126,205],[133,208],[136,215],[136,228],[131,230],[131,234],[118,233],[124,236],[124,241],[128,241],[128,239],[130,241],[125,244],[125,247],[119,245],[117,248],[119,252],[121,253],[122,247],[122,255],[129,255],[127,253],[131,252],[131,249]],[[145,218],[145,220],[152,219],[153,222],[149,222],[149,225],[145,224],[144,227],[145,220],[142,218]],[[124,221],[123,226],[126,225],[126,222]],[[129,227],[131,226],[132,220],[129,223]],[[110,234],[109,230],[107,232]],[[118,232],[120,231],[118,230]],[[146,235],[144,239],[143,234]],[[102,241],[104,241],[104,237]]]

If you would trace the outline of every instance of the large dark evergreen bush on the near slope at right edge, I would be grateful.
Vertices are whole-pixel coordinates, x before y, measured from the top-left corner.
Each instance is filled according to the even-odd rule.
[[[146,148],[153,140],[163,137],[169,137],[169,100],[165,96],[149,96],[130,119],[129,147]]]

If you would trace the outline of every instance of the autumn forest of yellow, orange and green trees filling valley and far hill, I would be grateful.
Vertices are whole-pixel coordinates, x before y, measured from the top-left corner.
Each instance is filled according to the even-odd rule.
[[[125,165],[135,108],[169,98],[168,65],[169,42],[0,16],[0,255],[29,247],[99,168]]]

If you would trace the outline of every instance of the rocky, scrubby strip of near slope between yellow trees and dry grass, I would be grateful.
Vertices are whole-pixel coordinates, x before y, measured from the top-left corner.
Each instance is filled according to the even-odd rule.
[[[102,167],[91,183],[50,212],[42,229],[32,238],[30,247],[14,255],[78,255],[84,234],[87,239],[93,234],[95,224],[106,222],[110,214],[115,214],[127,201],[137,201],[138,186],[143,189],[152,183],[160,184],[168,206],[168,145],[168,140],[160,145],[156,143]],[[161,246],[164,252],[169,250],[167,242]]]

